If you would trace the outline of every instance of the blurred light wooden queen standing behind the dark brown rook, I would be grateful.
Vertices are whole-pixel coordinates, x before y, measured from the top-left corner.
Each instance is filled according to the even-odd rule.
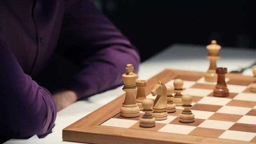
[[[206,46],[206,48],[209,51],[208,56],[206,58],[210,60],[210,67],[204,76],[204,80],[208,82],[216,82],[218,77],[216,74],[216,62],[218,59],[220,59],[218,53],[221,46],[217,44],[216,40],[212,40],[211,44]]]

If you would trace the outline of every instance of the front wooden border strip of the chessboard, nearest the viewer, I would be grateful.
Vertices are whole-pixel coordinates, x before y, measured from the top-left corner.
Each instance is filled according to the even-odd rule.
[[[69,136],[67,141],[97,144],[252,144],[252,142],[237,140],[108,126],[89,126],[86,129],[71,128],[63,132]]]

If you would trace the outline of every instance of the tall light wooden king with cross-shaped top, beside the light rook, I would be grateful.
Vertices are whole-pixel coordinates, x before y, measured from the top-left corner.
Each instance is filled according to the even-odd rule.
[[[140,115],[140,108],[136,104],[136,101],[134,98],[134,92],[137,91],[137,88],[136,88],[137,74],[134,74],[133,70],[134,68],[132,64],[127,64],[125,68],[126,74],[122,75],[124,80],[123,90],[126,93],[125,93],[124,103],[120,109],[120,116],[126,117],[126,118],[133,118]]]

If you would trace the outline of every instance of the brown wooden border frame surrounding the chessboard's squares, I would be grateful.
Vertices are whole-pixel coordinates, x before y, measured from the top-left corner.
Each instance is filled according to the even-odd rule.
[[[146,95],[150,94],[154,85],[161,82],[168,82],[174,79],[178,75],[184,76],[204,76],[204,72],[192,72],[192,71],[182,71],[182,70],[170,70],[166,69],[156,76],[148,80],[148,86],[146,87]],[[226,74],[227,78],[232,78],[236,80],[251,80],[252,77],[244,76],[241,74]],[[184,134],[173,134],[165,132],[154,132],[147,130],[136,130],[128,128],[118,128],[110,126],[100,126],[106,120],[112,118],[120,112],[120,107],[124,102],[125,94],[109,102],[108,104],[102,106],[101,108],[95,110],[94,112],[88,114],[87,116],[81,118],[80,120],[74,122],[70,126],[62,130],[62,139],[64,141],[71,142],[84,142],[84,143],[104,143],[104,144],[141,144],[141,143],[151,143],[151,144],[169,144],[169,143],[190,143],[190,144],[216,144],[216,143],[248,143],[237,140],[228,140],[221,138],[211,138],[204,136],[191,136]]]

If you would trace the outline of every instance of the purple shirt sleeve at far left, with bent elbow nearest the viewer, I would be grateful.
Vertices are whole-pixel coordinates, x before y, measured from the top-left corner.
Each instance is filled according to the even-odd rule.
[[[25,74],[0,38],[0,137],[24,138],[48,132],[56,119],[51,94]]]

